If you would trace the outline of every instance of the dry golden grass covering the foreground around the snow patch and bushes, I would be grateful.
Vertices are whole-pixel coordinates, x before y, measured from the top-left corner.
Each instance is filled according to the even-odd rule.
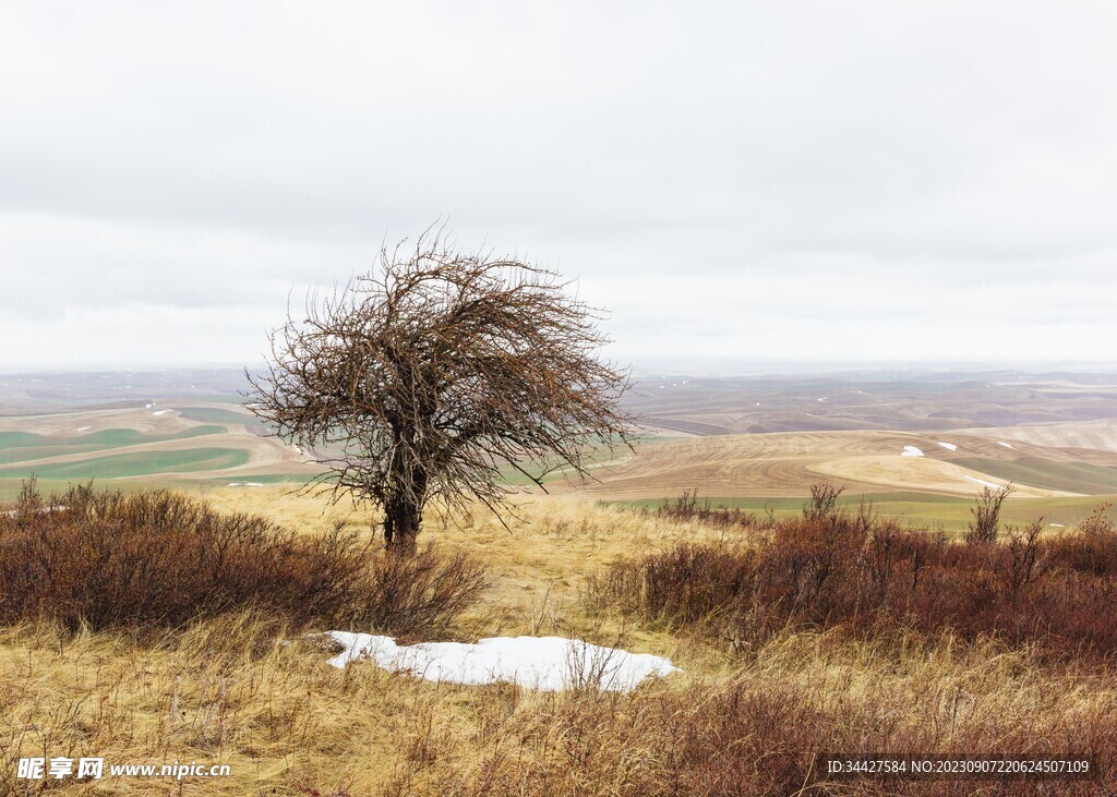
[[[218,509],[304,534],[367,534],[369,518],[283,488],[218,490]],[[1028,645],[887,627],[791,626],[733,640],[590,599],[619,559],[747,530],[574,500],[495,518],[432,519],[426,537],[472,554],[493,586],[449,635],[556,634],[667,655],[684,670],[630,695],[439,685],[369,664],[345,671],[305,628],[242,611],[159,634],[0,631],[0,790],[197,795],[1111,794],[1102,780],[821,782],[819,750],[1117,751],[1117,673]],[[289,643],[289,644],[288,644]],[[17,780],[20,756],[229,764],[231,777]],[[1105,764],[1105,762],[1104,762]]]

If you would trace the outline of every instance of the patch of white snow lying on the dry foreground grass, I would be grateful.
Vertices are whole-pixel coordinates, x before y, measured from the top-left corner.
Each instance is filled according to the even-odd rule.
[[[600,684],[610,692],[630,692],[646,678],[662,678],[677,670],[667,659],[650,653],[629,653],[561,636],[495,636],[476,644],[397,645],[390,636],[344,631],[328,631],[325,635],[345,646],[330,660],[333,666],[370,659],[393,672],[470,685],[510,681],[554,692]]]

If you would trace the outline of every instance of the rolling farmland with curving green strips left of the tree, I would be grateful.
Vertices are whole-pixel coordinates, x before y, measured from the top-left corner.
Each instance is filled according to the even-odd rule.
[[[203,371],[2,377],[0,500],[32,473],[45,491],[94,480],[195,493],[319,473],[266,436],[230,395],[236,384],[236,374]]]

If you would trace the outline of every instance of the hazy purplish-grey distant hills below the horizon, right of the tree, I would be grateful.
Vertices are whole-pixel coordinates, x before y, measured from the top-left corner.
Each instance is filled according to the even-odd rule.
[[[1113,448],[1117,375],[1018,371],[685,374],[648,369],[627,397],[645,423],[703,435],[1058,425],[1059,445]],[[1099,436],[1100,433],[1100,436]],[[1071,439],[1069,435],[1081,435]],[[1014,435],[1008,435],[1013,436]],[[1043,444],[1034,439],[1032,442]]]

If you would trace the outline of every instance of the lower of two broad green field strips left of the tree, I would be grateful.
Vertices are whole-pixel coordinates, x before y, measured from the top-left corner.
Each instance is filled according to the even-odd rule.
[[[0,478],[22,478],[32,472],[44,479],[121,479],[154,473],[225,470],[246,464],[244,449],[201,448],[181,451],[136,451],[94,457],[76,462],[44,462],[37,467],[3,468]]]

